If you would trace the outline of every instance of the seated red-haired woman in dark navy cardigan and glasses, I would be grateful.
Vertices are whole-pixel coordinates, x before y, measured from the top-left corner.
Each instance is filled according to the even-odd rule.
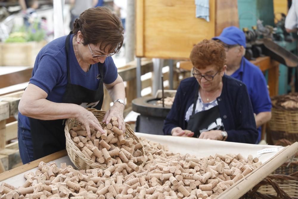
[[[203,40],[193,47],[193,77],[181,81],[164,134],[255,144],[258,132],[243,82],[224,74],[224,47]]]

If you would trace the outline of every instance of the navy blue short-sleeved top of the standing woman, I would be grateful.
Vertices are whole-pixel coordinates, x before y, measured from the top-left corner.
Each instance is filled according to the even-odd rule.
[[[97,64],[92,64],[88,72],[83,71],[75,57],[72,46],[73,36],[72,34],[69,38],[68,55],[71,84],[77,84],[90,90],[97,90],[100,82],[100,79],[96,78],[100,74],[98,66]],[[35,60],[32,78],[30,78],[30,84],[40,87],[48,94],[46,99],[56,103],[62,103],[67,84],[66,37],[57,38],[41,49]],[[105,84],[113,83],[118,76],[113,58],[107,57],[101,66],[103,66],[103,74],[101,74],[103,82]],[[24,129],[30,130],[29,118],[20,113],[18,117],[24,125]]]

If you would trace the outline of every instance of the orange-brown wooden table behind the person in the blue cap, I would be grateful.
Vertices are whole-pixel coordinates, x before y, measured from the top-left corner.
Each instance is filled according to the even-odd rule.
[[[279,62],[272,60],[269,56],[258,57],[256,60],[250,62],[258,66],[262,72],[268,70],[269,95],[278,95]],[[193,64],[190,61],[180,61],[180,68],[191,70]]]

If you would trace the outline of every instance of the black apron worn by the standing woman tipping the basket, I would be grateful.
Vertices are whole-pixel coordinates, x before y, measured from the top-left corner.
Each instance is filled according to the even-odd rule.
[[[66,67],[67,67],[67,85],[63,95],[62,103],[82,104],[86,103],[89,107],[100,110],[103,104],[103,64],[98,63],[100,71],[100,82],[97,90],[89,90],[80,85],[72,84],[69,70],[69,39],[72,32],[66,37]],[[98,75],[99,76],[99,75]],[[42,158],[46,155],[65,149],[65,121],[58,120],[38,120],[29,118],[31,136],[34,150],[34,159]]]

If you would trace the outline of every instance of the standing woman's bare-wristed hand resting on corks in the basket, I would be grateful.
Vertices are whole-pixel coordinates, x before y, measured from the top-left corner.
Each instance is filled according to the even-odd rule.
[[[97,118],[93,115],[92,112],[90,112],[89,110],[85,109],[84,107],[82,107],[81,109],[79,109],[80,111],[78,112],[77,115],[77,120],[79,122],[81,122],[83,124],[83,126],[85,127],[86,131],[87,131],[87,136],[91,137],[91,133],[90,133],[90,126],[94,127],[96,130],[100,131],[102,134],[104,134],[105,132],[103,131],[103,128],[101,127],[99,121],[97,120]]]

